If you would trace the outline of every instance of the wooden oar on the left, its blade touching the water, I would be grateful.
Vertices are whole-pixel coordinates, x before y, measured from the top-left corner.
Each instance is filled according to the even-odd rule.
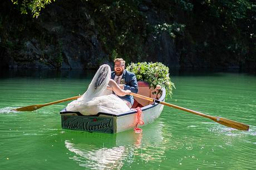
[[[70,97],[70,98],[62,99],[60,101],[50,102],[50,103],[46,103],[46,104],[35,104],[35,105],[31,105],[31,106],[19,107],[16,109],[12,109],[11,111],[35,111],[36,109],[39,109],[41,107],[49,106],[49,105],[56,104],[56,103],[71,101],[71,100],[77,99],[79,97],[80,96],[75,96],[75,97]]]

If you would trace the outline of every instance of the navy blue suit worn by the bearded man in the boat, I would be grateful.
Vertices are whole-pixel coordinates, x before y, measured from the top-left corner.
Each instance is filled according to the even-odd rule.
[[[115,78],[115,72],[111,72],[111,79]],[[124,70],[121,78],[121,84],[124,84],[124,90],[130,90],[132,93],[138,92],[138,83],[134,73]],[[134,104],[134,97],[130,95],[119,96],[121,99],[125,99],[130,102],[131,105]]]

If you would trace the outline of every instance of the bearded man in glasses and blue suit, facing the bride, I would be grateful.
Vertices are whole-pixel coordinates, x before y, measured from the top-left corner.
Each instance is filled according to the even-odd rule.
[[[119,85],[121,89],[130,90],[132,93],[138,92],[137,79],[134,73],[125,70],[125,61],[122,58],[116,58],[114,60],[115,67],[113,72],[111,72],[111,79]],[[134,103],[134,97],[130,95],[119,96],[128,107],[131,108]]]

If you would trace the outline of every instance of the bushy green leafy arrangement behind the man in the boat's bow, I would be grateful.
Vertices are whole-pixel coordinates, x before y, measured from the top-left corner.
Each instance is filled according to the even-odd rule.
[[[160,85],[165,88],[166,94],[170,97],[173,94],[172,91],[175,86],[169,77],[169,68],[164,64],[160,62],[131,63],[126,69],[136,75],[137,81],[149,83],[150,88],[156,89],[156,86]],[[156,91],[153,93],[156,94]]]

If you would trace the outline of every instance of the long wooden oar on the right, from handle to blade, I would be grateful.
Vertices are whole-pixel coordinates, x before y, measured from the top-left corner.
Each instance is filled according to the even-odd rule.
[[[190,112],[190,113],[193,113],[193,114],[196,114],[196,115],[199,115],[199,116],[203,116],[203,117],[206,117],[206,118],[209,118],[209,119],[213,120],[214,122],[223,124],[223,125],[228,126],[228,127],[232,127],[232,128],[239,129],[239,130],[242,130],[242,131],[249,131],[249,126],[247,124],[235,122],[235,121],[232,121],[230,119],[226,119],[226,118],[222,118],[222,117],[209,116],[207,114],[196,112],[196,111],[184,108],[184,107],[176,106],[174,104],[161,102],[157,99],[152,99],[150,97],[142,96],[142,95],[136,94],[136,93],[130,93],[130,95],[138,97],[138,98],[145,99],[145,100],[150,101],[150,102],[154,102],[154,100],[155,100],[156,103],[164,104],[165,106],[174,107],[176,109],[180,109],[181,111]]]

